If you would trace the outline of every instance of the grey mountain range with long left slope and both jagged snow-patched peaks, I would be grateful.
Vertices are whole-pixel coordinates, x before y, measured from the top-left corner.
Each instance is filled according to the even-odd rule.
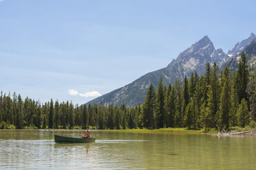
[[[184,76],[189,77],[192,72],[197,71],[198,75],[202,75],[205,71],[204,67],[207,62],[211,65],[216,62],[218,66],[225,65],[226,62],[231,61],[237,53],[241,53],[245,47],[255,37],[255,34],[250,34],[248,38],[238,42],[235,47],[228,51],[228,54],[224,53],[222,49],[215,49],[213,42],[208,36],[204,36],[202,39],[195,42],[191,47],[180,53],[178,58],[173,60],[167,67],[163,69],[147,73],[142,77],[139,77],[131,84],[127,84],[122,88],[118,88],[110,93],[100,96],[87,104],[100,104],[108,106],[114,104],[120,106],[126,104],[127,107],[133,107],[142,104],[147,94],[147,88],[149,84],[158,86],[158,81],[162,76],[162,82],[164,85],[173,84],[175,80],[182,81]]]

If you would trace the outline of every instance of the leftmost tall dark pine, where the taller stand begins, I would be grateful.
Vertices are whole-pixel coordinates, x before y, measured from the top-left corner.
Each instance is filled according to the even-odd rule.
[[[143,127],[150,129],[155,128],[153,117],[153,102],[155,100],[155,96],[155,88],[153,87],[153,84],[150,84],[145,101],[142,104],[142,124]]]

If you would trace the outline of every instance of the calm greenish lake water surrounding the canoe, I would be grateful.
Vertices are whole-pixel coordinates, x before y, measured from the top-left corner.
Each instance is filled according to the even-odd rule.
[[[255,136],[91,131],[95,143],[54,143],[82,132],[2,130],[0,169],[256,169]]]

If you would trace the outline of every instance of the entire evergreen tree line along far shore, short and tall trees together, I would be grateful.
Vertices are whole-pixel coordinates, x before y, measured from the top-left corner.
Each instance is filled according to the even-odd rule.
[[[0,128],[65,128],[132,129],[162,127],[188,127],[220,131],[230,127],[255,125],[255,74],[248,71],[246,56],[242,53],[238,69],[231,73],[207,63],[205,73],[195,71],[175,81],[171,86],[162,84],[156,89],[150,84],[145,101],[140,106],[127,108],[125,104],[78,106],[72,101],[52,99],[44,104],[21,95],[1,92]]]

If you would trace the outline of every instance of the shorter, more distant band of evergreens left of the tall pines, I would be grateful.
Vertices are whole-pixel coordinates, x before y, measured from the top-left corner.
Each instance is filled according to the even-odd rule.
[[[126,129],[141,128],[140,105],[127,108],[122,104],[78,106],[72,101],[52,99],[44,104],[14,93],[0,96],[0,128]]]

